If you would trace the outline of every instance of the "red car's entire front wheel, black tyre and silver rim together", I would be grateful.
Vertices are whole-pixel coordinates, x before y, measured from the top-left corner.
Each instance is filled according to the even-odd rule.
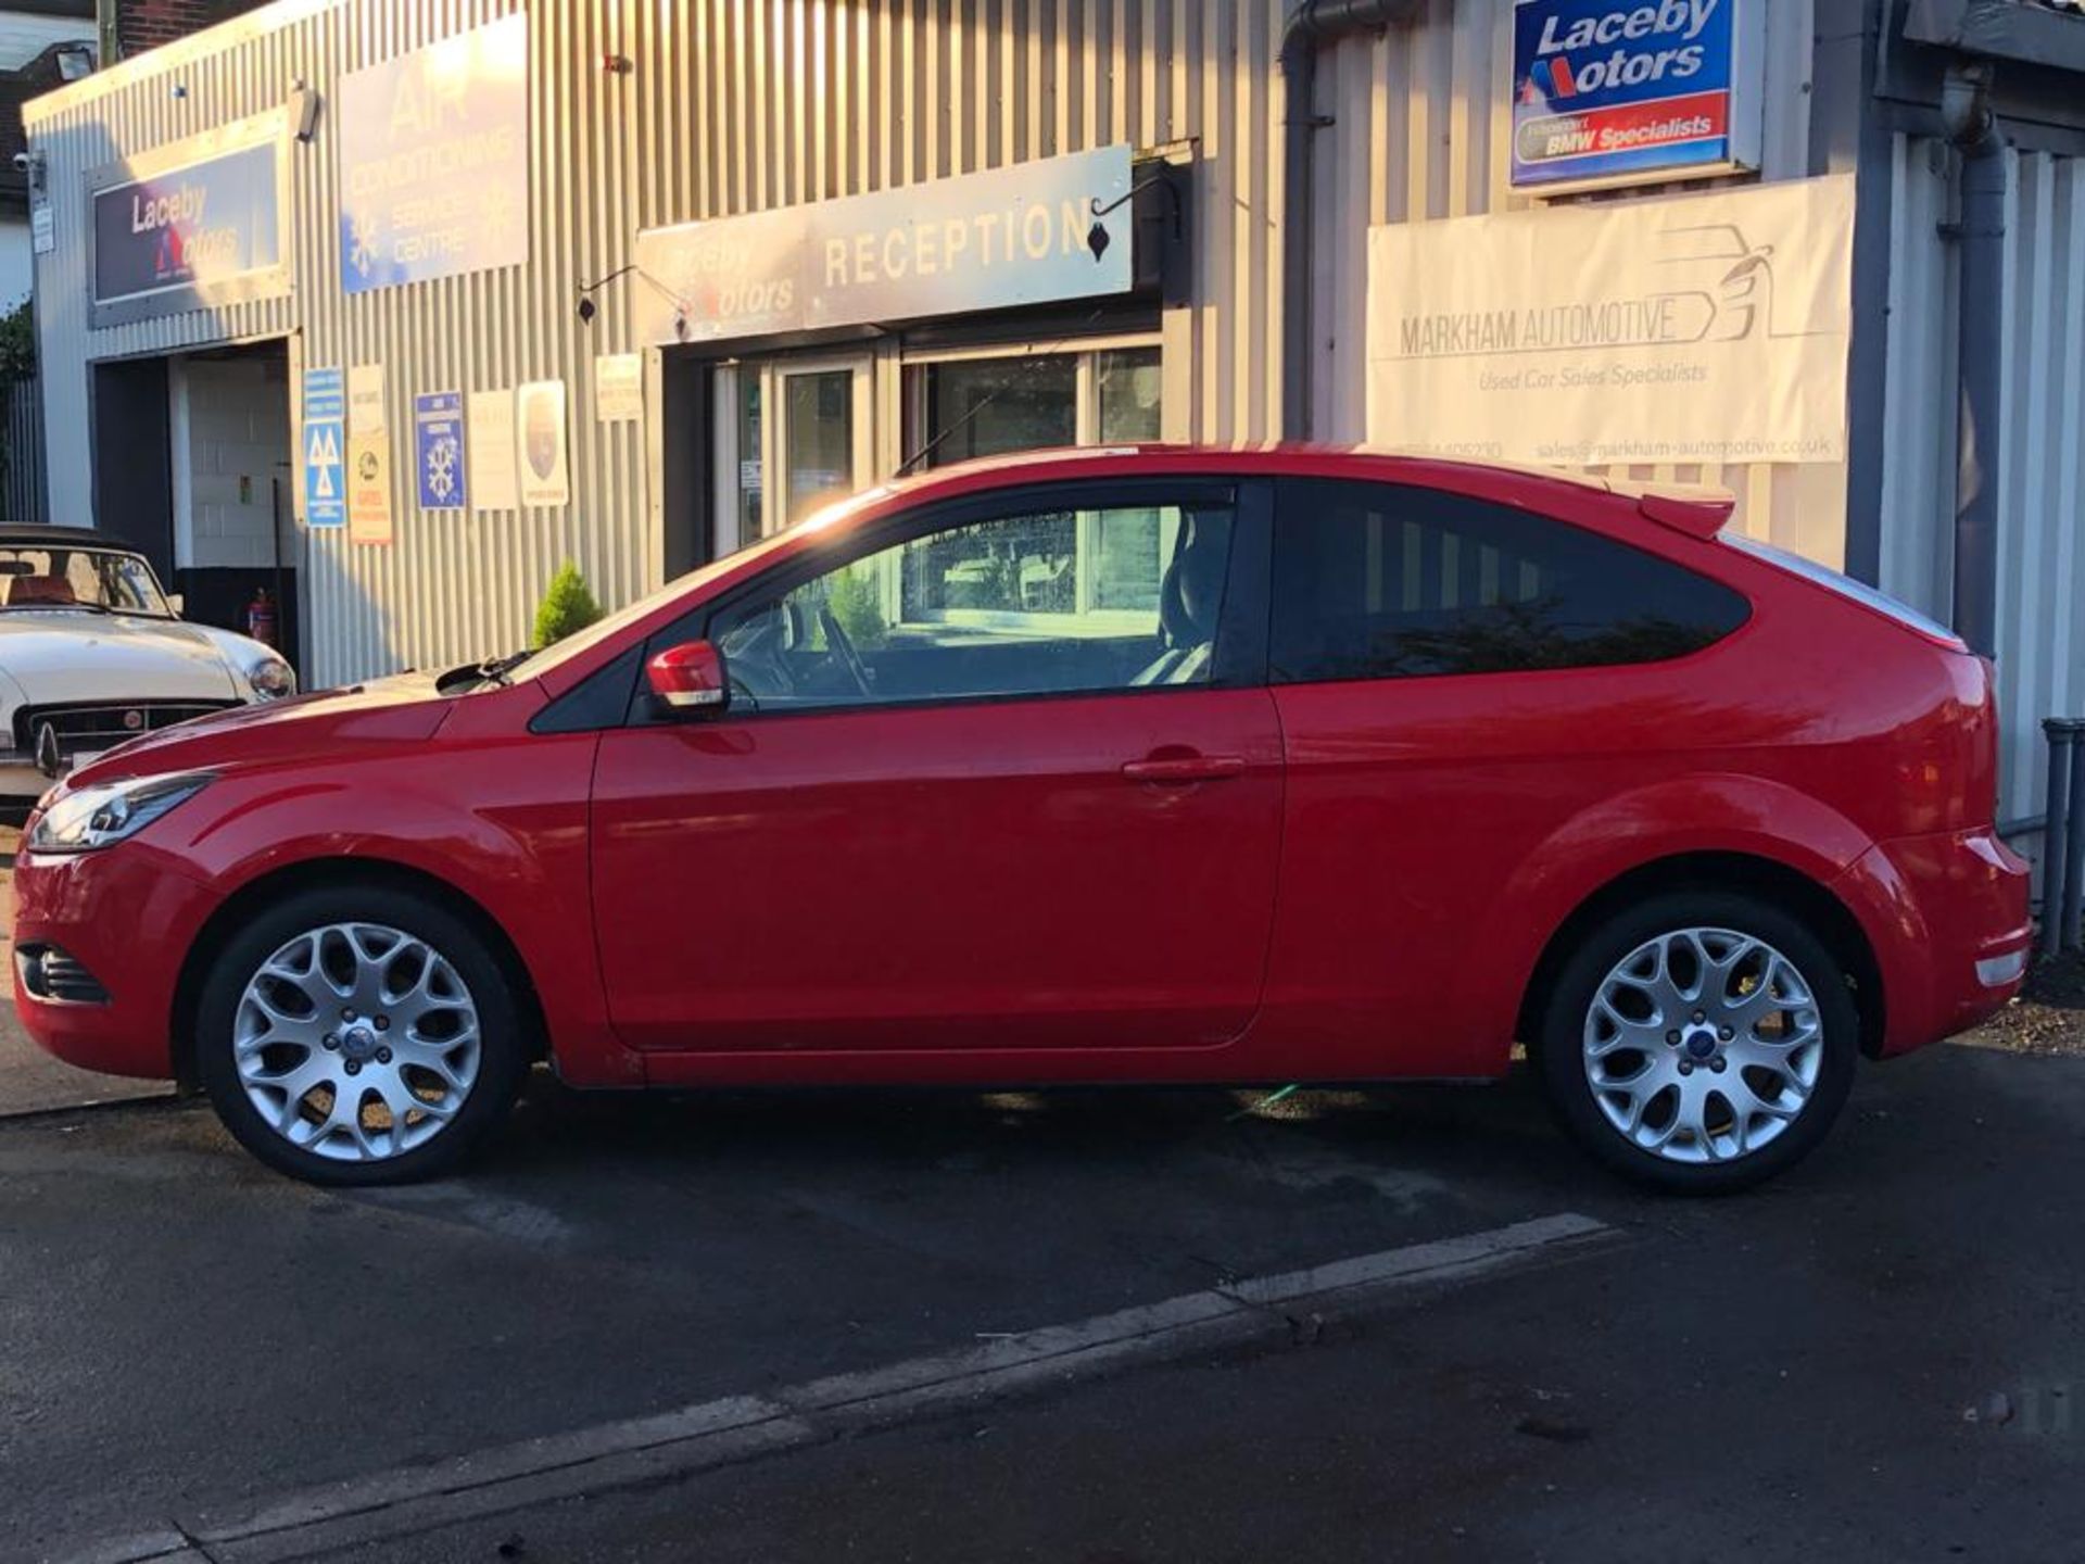
[[[390,886],[267,907],[217,953],[196,1007],[196,1074],[217,1116],[313,1184],[448,1172],[507,1118],[528,1061],[484,934]]]

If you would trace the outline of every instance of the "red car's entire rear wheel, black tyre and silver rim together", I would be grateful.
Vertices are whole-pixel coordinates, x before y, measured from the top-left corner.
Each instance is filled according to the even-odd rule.
[[[1854,1084],[1860,1013],[1801,918],[1676,890],[1576,945],[1532,1053],[1553,1111],[1599,1162],[1655,1191],[1720,1195],[1824,1139]]]

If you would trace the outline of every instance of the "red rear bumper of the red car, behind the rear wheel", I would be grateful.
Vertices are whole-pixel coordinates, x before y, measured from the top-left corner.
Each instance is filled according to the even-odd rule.
[[[1881,968],[1881,1057],[1966,1032],[2020,993],[2035,936],[2029,865],[1997,832],[1881,842],[1837,890]]]

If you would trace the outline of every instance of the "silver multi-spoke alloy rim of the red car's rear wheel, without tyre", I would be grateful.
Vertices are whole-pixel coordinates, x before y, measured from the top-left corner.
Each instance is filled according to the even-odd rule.
[[[1678,1164],[1747,1157],[1808,1107],[1824,1022],[1766,940],[1681,928],[1622,957],[1585,1018],[1593,1101],[1630,1145]]]

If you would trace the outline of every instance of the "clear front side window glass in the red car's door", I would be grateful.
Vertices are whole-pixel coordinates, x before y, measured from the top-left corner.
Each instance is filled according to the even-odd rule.
[[[709,638],[753,711],[1207,684],[1230,505],[965,519],[723,609]]]

